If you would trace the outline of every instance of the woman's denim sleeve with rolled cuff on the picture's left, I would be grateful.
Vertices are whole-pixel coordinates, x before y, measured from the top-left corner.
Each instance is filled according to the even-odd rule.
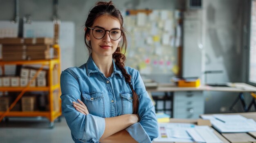
[[[81,99],[79,81],[72,72],[61,73],[61,108],[67,125],[75,139],[83,142],[99,142],[105,130],[105,119],[92,114],[84,115],[73,107],[73,101]]]

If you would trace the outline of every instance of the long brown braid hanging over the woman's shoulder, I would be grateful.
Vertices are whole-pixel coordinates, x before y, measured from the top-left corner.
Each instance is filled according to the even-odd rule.
[[[139,107],[139,97],[136,94],[135,90],[132,87],[132,83],[131,83],[131,76],[127,73],[126,69],[124,68],[124,62],[126,61],[126,57],[124,54],[120,53],[120,47],[117,47],[117,50],[115,51],[115,53],[113,53],[112,56],[115,60],[116,60],[116,65],[121,69],[126,82],[129,83],[129,86],[132,90],[132,108],[133,108],[133,114],[137,114],[138,113],[138,107]]]

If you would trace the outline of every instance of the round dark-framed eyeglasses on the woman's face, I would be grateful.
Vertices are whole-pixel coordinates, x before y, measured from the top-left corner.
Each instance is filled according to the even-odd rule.
[[[106,35],[106,31],[108,31],[108,35],[111,40],[119,40],[121,37],[122,33],[124,32],[123,30],[120,29],[113,29],[113,30],[104,30],[101,28],[90,28],[87,27],[88,29],[92,29],[92,35],[96,39],[102,39]]]

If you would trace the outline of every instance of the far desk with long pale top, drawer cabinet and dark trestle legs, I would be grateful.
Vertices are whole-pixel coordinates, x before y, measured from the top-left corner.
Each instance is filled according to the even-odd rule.
[[[198,118],[200,114],[204,113],[204,97],[203,91],[220,91],[220,92],[238,92],[238,97],[231,104],[230,110],[240,100],[245,112],[249,110],[244,100],[243,93],[256,92],[256,87],[245,83],[227,83],[227,87],[223,86],[205,86],[200,87],[177,87],[174,84],[158,84],[156,88],[150,88],[145,84],[148,92],[165,92],[166,95],[171,93],[171,117],[173,118]],[[255,108],[256,104],[252,100]],[[249,107],[252,106],[252,103]]]

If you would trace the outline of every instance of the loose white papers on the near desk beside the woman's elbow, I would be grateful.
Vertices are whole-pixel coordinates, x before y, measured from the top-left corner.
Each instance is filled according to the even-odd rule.
[[[159,136],[154,142],[222,143],[209,126],[189,123],[159,123]]]

